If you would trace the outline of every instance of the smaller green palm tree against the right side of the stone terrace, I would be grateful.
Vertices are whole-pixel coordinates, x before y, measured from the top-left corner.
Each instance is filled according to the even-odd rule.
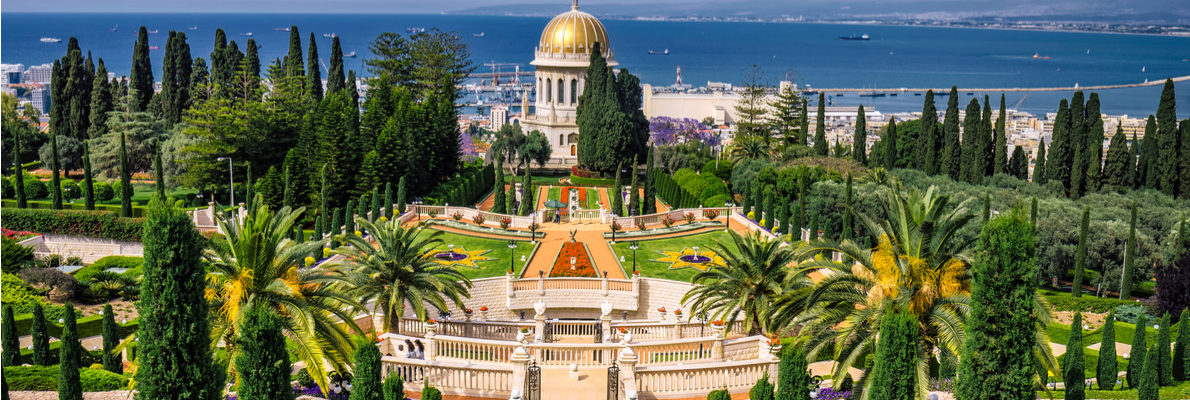
[[[809,288],[810,281],[790,268],[797,261],[793,246],[759,233],[741,236],[731,231],[731,238],[734,249],[715,242],[724,265],[712,264],[694,275],[690,281],[697,286],[682,296],[682,302],[693,299],[694,313],[704,312],[727,326],[743,319],[749,335],[771,332],[769,305],[785,293]]]

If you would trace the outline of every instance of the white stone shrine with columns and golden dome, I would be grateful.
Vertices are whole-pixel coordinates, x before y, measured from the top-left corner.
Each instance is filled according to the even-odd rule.
[[[531,64],[537,68],[533,83],[537,99],[533,112],[526,113],[520,123],[525,132],[540,131],[550,139],[553,150],[551,163],[578,163],[578,124],[575,117],[591,49],[596,43],[607,64],[618,65],[603,23],[578,11],[578,1],[574,0],[570,11],[553,17],[545,25],[533,51]],[[527,102],[522,98],[521,110],[528,110]]]

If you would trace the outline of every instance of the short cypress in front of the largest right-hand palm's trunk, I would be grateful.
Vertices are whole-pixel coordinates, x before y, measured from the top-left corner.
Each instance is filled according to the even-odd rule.
[[[869,396],[887,400],[915,399],[916,377],[917,319],[902,310],[888,310],[881,319]]]

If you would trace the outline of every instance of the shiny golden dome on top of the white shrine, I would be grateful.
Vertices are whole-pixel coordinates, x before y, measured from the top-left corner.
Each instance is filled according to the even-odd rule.
[[[540,52],[552,54],[590,54],[590,48],[599,43],[605,56],[608,54],[607,29],[594,15],[578,11],[578,1],[574,0],[570,11],[558,14],[541,31]]]

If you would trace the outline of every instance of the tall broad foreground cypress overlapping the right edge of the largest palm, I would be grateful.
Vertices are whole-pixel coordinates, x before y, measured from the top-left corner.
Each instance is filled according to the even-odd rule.
[[[1036,230],[1013,211],[983,225],[971,275],[971,313],[958,399],[1035,399]]]

